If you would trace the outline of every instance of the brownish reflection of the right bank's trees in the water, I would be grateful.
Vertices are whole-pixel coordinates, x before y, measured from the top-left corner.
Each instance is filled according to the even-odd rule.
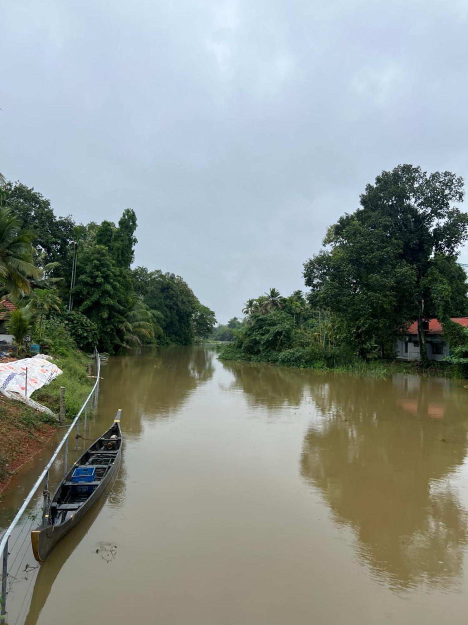
[[[459,498],[466,390],[444,379],[361,379],[223,362],[253,406],[313,406],[300,472],[359,561],[394,589],[442,589],[462,575],[468,518]],[[302,412],[305,412],[304,410]],[[467,467],[468,471],[468,467]]]

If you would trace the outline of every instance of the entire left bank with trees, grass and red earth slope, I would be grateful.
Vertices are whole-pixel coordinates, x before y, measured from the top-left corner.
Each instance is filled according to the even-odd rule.
[[[77,224],[25,184],[0,177],[0,334],[16,357],[36,344],[62,375],[34,393],[57,414],[64,386],[66,419],[79,411],[95,378],[86,353],[115,354],[143,344],[190,344],[207,337],[215,314],[182,277],[132,269],[137,217]],[[0,346],[1,349],[1,346]],[[3,347],[7,351],[7,347]],[[0,490],[49,440],[57,419],[0,396]]]

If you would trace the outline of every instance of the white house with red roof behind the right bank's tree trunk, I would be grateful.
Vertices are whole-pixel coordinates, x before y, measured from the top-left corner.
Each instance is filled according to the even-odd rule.
[[[463,327],[468,327],[468,317],[451,317],[451,320]],[[438,319],[429,319],[424,322],[426,334],[427,357],[429,360],[443,360],[450,356],[450,346],[444,339],[444,329]],[[397,360],[419,360],[421,352],[417,339],[417,321],[407,329],[404,336],[397,340]]]

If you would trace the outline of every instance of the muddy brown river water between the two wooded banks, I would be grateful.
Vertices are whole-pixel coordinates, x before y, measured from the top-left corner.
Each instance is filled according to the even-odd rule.
[[[10,623],[467,621],[462,382],[220,362],[202,347],[110,358],[102,377],[86,434],[122,408],[119,477],[26,574]],[[41,463],[15,477],[4,514]]]

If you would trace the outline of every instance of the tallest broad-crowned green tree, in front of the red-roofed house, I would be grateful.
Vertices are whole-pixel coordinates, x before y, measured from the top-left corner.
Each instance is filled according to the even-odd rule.
[[[366,186],[361,208],[330,227],[328,249],[305,263],[311,303],[339,315],[361,355],[417,319],[424,361],[424,319],[466,309],[455,266],[468,234],[468,214],[454,206],[463,197],[463,180],[449,172],[409,164],[384,171]],[[441,291],[440,276],[450,290]]]

